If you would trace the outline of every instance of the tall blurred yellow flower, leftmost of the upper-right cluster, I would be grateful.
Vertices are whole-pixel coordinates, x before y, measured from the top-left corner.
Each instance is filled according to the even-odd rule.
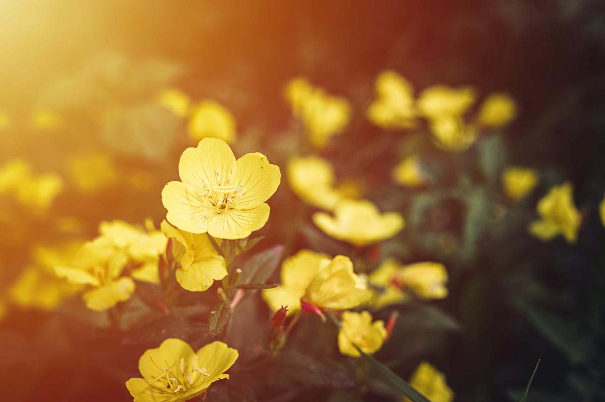
[[[382,72],[376,79],[376,95],[367,111],[375,125],[384,128],[413,128],[416,125],[414,88],[395,71]]]

